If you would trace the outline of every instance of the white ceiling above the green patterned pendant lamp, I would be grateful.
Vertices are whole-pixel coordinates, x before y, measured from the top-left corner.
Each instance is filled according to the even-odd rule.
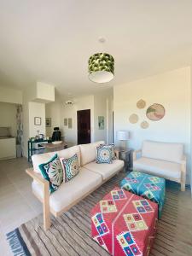
[[[98,43],[98,38],[106,43]],[[113,55],[115,79],[94,84],[89,56]],[[1,0],[0,83],[23,88],[55,84],[62,95],[183,67],[192,55],[192,1]]]

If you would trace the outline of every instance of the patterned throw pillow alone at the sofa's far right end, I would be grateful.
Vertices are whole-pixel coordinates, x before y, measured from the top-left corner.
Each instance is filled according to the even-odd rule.
[[[111,146],[105,145],[96,147],[96,163],[97,164],[112,164],[113,153]]]

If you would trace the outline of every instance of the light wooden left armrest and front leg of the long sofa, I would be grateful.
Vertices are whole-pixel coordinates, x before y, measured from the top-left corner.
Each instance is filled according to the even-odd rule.
[[[44,179],[44,177],[42,177],[37,172],[34,172],[32,168],[26,169],[26,173],[43,187],[44,230],[49,230],[49,227],[50,227],[49,181]]]

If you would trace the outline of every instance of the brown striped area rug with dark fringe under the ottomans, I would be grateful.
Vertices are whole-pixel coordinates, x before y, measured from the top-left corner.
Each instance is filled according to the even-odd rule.
[[[52,225],[47,232],[43,229],[43,216],[39,215],[7,234],[13,254],[15,256],[109,255],[90,237],[90,209],[114,186],[119,185],[123,177],[125,172],[103,184],[70,211],[63,213],[60,218],[52,217]],[[179,232],[179,219],[181,219],[178,208],[179,193],[179,186],[176,183],[166,183],[166,205],[158,224],[151,256],[192,255],[190,227],[185,227],[184,234]]]

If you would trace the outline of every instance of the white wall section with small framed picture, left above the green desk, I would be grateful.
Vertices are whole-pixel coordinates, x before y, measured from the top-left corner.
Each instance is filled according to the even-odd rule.
[[[45,134],[45,105],[44,103],[29,102],[29,137],[35,137],[39,133]],[[41,118],[41,125],[34,125],[34,118]]]

